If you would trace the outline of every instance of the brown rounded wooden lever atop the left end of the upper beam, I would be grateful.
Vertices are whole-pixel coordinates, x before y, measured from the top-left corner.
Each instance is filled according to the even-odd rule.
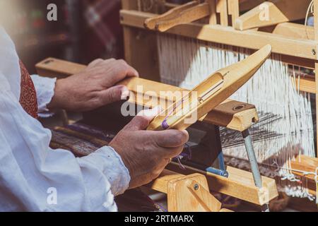
[[[183,23],[192,23],[211,14],[211,8],[208,3],[199,4],[198,1],[191,1],[182,6],[172,8],[163,15],[154,18],[148,18],[144,26],[150,30],[165,32],[170,28]]]

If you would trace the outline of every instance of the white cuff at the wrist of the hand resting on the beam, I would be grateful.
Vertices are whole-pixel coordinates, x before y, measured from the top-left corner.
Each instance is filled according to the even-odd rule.
[[[37,75],[31,76],[37,93],[37,113],[40,117],[51,117],[54,112],[49,112],[47,105],[54,96],[54,88],[57,78],[45,78]]]

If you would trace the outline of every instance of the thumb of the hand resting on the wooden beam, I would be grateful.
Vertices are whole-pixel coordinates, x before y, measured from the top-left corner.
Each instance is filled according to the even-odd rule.
[[[99,93],[100,101],[103,105],[108,105],[119,100],[126,100],[129,97],[129,90],[124,85],[116,85]]]

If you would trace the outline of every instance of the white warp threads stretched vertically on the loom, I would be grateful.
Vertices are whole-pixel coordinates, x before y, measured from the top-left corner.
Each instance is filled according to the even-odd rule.
[[[214,71],[245,59],[248,49],[188,37],[158,34],[160,78],[163,83],[191,90]],[[290,73],[291,72],[291,73]],[[296,155],[314,157],[314,129],[310,95],[299,92],[300,69],[272,54],[254,77],[231,98],[256,105],[260,121],[250,129],[261,173],[279,179],[290,196],[309,197],[306,182],[290,171]],[[249,168],[242,134],[220,129],[228,165]]]

